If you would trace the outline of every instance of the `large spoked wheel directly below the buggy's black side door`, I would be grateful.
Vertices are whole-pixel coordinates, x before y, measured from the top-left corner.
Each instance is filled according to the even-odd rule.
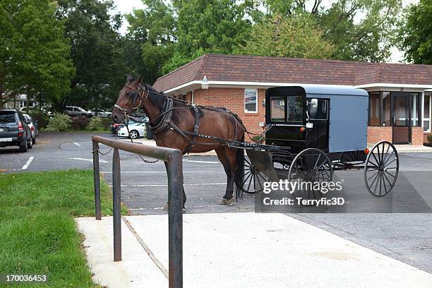
[[[328,156],[319,149],[308,148],[296,155],[292,161],[288,179],[292,183],[299,182],[299,185],[292,191],[294,198],[319,200],[327,194],[321,192],[323,182],[332,181],[332,176],[332,162]]]

